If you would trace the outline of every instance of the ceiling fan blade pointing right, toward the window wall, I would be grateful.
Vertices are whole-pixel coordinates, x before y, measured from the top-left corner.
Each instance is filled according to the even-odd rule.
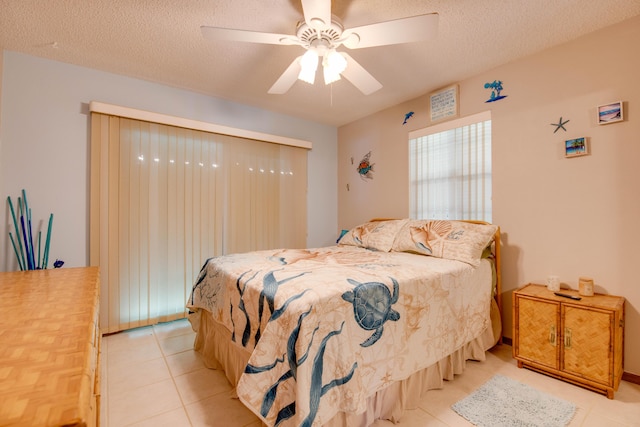
[[[410,18],[379,22],[344,30],[343,44],[349,49],[411,43],[435,38],[438,14],[429,13]]]

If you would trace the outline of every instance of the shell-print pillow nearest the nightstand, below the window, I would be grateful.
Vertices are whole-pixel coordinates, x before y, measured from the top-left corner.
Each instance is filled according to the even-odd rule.
[[[411,220],[398,232],[392,250],[480,264],[498,226],[448,220]]]

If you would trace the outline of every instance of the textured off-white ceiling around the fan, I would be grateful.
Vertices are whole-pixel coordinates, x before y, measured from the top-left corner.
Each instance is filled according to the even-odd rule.
[[[437,12],[435,40],[350,51],[383,88],[267,90],[303,51],[204,40],[200,26],[294,34],[299,0],[0,0],[0,48],[339,126],[640,14],[640,0],[334,0],[345,28]]]

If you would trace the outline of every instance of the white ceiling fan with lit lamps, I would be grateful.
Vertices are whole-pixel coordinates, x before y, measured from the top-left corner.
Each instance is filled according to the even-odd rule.
[[[331,0],[301,1],[304,21],[298,23],[295,35],[208,26],[200,29],[209,40],[299,45],[306,49],[289,65],[268,93],[286,93],[297,79],[313,84],[318,62],[322,58],[325,84],[339,80],[342,75],[365,95],[379,90],[382,84],[348,53],[338,52],[337,48],[362,49],[428,40],[435,37],[438,30],[437,13],[345,29],[340,20],[331,14]]]

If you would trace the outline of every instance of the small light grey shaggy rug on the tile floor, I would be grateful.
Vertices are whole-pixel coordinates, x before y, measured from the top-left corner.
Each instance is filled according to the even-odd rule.
[[[576,405],[495,375],[451,409],[479,427],[564,427],[575,414]]]

